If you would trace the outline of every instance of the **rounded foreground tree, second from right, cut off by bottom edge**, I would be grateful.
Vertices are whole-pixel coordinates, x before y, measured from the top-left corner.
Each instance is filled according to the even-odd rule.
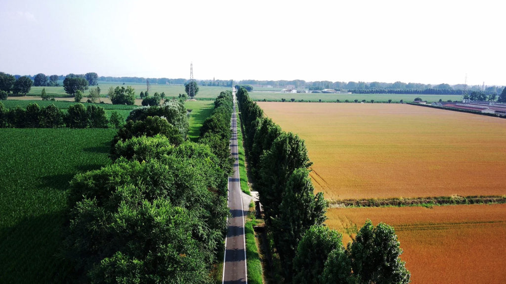
[[[324,226],[312,226],[306,231],[293,259],[294,284],[319,284],[325,262],[331,251],[343,250],[340,232]]]

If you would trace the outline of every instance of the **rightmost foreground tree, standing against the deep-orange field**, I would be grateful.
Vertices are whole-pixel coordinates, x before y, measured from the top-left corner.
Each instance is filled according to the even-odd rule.
[[[411,274],[399,256],[394,229],[384,223],[376,227],[368,220],[351,245],[353,274],[360,283],[409,283]]]

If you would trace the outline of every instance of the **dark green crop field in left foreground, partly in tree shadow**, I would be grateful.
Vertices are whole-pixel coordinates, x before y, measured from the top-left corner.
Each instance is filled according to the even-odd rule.
[[[0,282],[62,282],[68,182],[110,164],[116,129],[0,129]]]

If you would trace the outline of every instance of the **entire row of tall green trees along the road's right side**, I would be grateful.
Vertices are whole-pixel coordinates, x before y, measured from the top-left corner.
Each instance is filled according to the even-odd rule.
[[[392,227],[370,221],[353,244],[324,226],[327,203],[314,194],[304,140],[285,132],[237,91],[253,189],[259,192],[285,283],[408,283],[410,273]]]

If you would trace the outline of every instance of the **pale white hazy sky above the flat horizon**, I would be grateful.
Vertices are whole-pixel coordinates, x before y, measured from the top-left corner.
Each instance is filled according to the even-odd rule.
[[[505,85],[502,3],[0,0],[0,71]]]

